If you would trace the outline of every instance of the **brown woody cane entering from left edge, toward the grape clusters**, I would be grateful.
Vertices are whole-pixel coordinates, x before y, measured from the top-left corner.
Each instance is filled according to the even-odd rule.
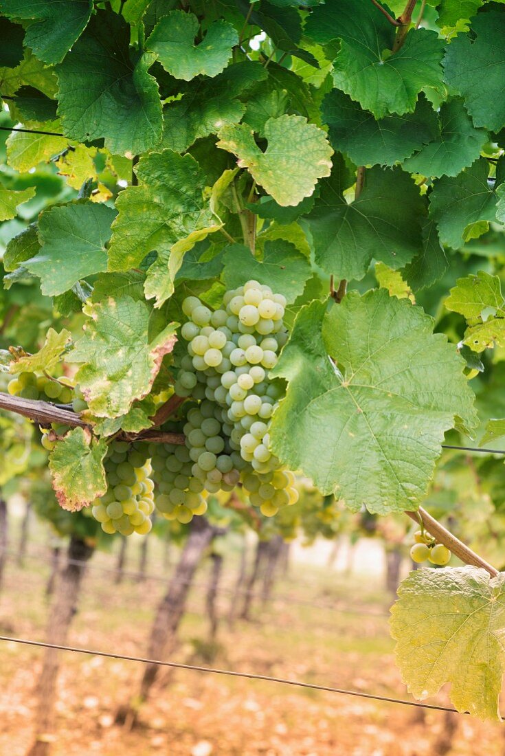
[[[179,397],[177,397],[179,399]],[[184,401],[184,400],[182,400]],[[159,412],[163,410],[170,403],[170,399]],[[180,402],[178,402],[180,404]],[[20,396],[11,396],[0,392],[0,409],[14,412],[23,417],[28,417],[29,420],[34,420],[43,428],[47,428],[51,423],[61,423],[62,425],[70,426],[70,428],[88,428],[92,430],[89,423],[82,420],[76,412],[71,410],[65,410],[62,407],[56,407],[49,401],[40,401],[39,399],[23,399]],[[175,402],[170,407],[170,414],[175,411]],[[167,414],[167,417],[169,415]],[[156,415],[153,420],[156,419]],[[166,418],[163,418],[163,423]],[[119,433],[116,436],[121,441],[127,441],[133,443],[135,441],[153,442],[158,444],[176,444],[179,446],[184,445],[185,438],[182,433],[166,433],[156,429],[143,430],[140,433]]]

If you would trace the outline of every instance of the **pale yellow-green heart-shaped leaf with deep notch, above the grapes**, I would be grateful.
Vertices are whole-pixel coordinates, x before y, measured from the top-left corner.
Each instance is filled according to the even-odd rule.
[[[248,169],[279,205],[298,205],[311,196],[318,178],[330,175],[333,149],[322,129],[302,116],[268,119],[263,133],[265,152],[246,124],[221,129],[217,146],[234,153],[237,165]]]

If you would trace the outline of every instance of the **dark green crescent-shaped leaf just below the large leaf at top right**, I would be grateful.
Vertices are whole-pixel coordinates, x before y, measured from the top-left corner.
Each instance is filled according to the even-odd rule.
[[[324,98],[321,110],[330,127],[331,144],[357,166],[392,166],[434,140],[438,132],[435,111],[423,97],[414,113],[376,120],[344,92],[333,89]]]

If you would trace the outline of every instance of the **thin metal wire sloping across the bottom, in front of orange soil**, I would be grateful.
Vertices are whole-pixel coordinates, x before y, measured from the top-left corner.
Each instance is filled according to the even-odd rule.
[[[106,651],[96,651],[93,649],[82,649],[77,646],[61,646],[59,643],[43,643],[40,640],[28,640],[26,638],[12,638],[0,635],[0,640],[7,643],[20,643],[24,646],[37,646],[44,649],[55,649],[58,651],[70,651],[78,654],[88,654],[91,656],[104,656],[106,658],[119,659],[124,662],[140,662],[141,664],[158,665],[160,667],[172,667],[175,669],[185,669],[192,672],[206,672],[208,674],[222,674],[228,677],[245,677],[247,680],[263,680],[266,683],[280,683],[281,685],[292,685],[298,688],[307,688],[311,690],[322,690],[329,693],[340,693],[342,696],[357,696],[361,699],[370,699],[372,701],[383,701],[391,704],[403,704],[404,706],[417,706],[419,708],[433,709],[435,711],[452,711],[455,714],[466,714],[467,712],[458,712],[448,706],[435,706],[433,704],[421,704],[417,701],[405,701],[404,699],[393,699],[389,696],[378,696],[373,693],[363,693],[358,690],[347,690],[344,688],[333,688],[327,685],[316,685],[315,683],[303,683],[299,680],[289,680],[285,677],[270,677],[266,674],[254,674],[252,672],[237,672],[229,669],[218,669],[214,667],[200,667],[197,665],[181,664],[180,662],[163,662],[160,659],[144,658],[143,656],[129,656],[125,654],[112,654]]]

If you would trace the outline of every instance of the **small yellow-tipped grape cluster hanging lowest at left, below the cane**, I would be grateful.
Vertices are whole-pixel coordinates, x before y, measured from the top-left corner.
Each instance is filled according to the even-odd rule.
[[[106,533],[149,533],[154,511],[154,483],[147,444],[113,441],[104,460],[107,493],[94,501],[91,513]]]

